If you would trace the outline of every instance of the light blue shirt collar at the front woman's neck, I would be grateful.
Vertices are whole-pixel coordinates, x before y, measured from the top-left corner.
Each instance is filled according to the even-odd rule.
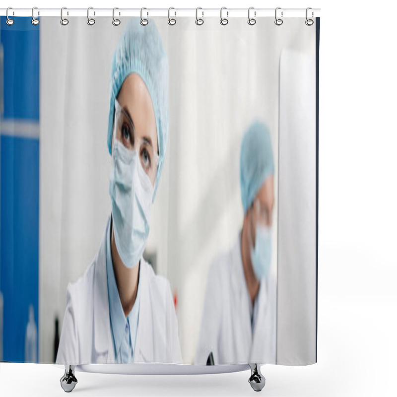
[[[121,343],[124,337],[124,330],[126,326],[130,328],[130,345],[132,351],[135,349],[135,339],[136,332],[138,330],[138,317],[139,317],[139,302],[140,302],[140,265],[138,273],[138,290],[136,292],[135,303],[132,307],[131,312],[126,317],[124,315],[124,310],[120,301],[119,290],[117,288],[116,277],[113,270],[110,238],[111,238],[111,227],[112,218],[108,224],[108,230],[106,234],[106,273],[107,273],[107,283],[108,283],[108,297],[109,297],[109,312],[110,312],[110,325],[113,335],[113,342],[116,356],[119,352]],[[127,322],[128,320],[128,322]],[[129,323],[129,324],[128,324]]]

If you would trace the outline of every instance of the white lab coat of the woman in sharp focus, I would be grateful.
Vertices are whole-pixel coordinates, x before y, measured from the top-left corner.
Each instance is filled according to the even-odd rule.
[[[99,252],[75,283],[69,283],[57,364],[115,362],[109,318],[106,236]],[[138,329],[134,362],[182,363],[178,323],[168,280],[156,275],[142,258]]]

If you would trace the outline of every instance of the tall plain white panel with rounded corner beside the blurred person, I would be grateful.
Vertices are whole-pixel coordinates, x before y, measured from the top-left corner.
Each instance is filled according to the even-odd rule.
[[[315,55],[287,48],[280,57],[277,362],[285,365],[317,354]]]

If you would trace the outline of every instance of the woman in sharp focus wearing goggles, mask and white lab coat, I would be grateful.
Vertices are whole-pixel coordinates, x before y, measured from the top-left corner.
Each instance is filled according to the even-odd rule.
[[[154,23],[131,20],[110,88],[112,213],[93,263],[67,287],[57,363],[181,363],[170,284],[142,257],[168,137],[168,61]]]

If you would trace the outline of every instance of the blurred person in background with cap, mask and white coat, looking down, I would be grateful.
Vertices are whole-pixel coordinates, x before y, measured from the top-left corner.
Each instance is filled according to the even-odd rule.
[[[276,362],[276,283],[270,272],[274,164],[267,127],[254,123],[240,154],[243,227],[210,266],[196,364]]]

